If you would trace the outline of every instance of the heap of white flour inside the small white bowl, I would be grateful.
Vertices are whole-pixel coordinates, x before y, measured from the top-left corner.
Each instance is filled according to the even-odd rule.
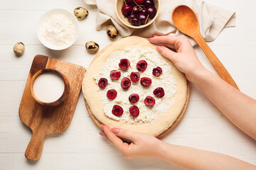
[[[41,29],[42,37],[50,45],[63,47],[75,38],[75,23],[63,13],[53,13]]]

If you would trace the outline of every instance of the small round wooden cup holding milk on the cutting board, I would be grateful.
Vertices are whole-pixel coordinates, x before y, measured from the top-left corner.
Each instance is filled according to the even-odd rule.
[[[39,74],[42,74],[43,72],[53,72],[55,74],[58,74],[58,76],[60,76],[63,81],[64,81],[64,91],[63,94],[60,96],[60,98],[58,98],[56,101],[50,102],[50,103],[45,103],[43,101],[40,101],[38,98],[36,98],[34,92],[33,92],[33,83],[36,79],[36,77],[39,76]],[[38,72],[36,72],[36,74],[33,75],[32,79],[31,79],[31,83],[29,86],[29,89],[31,91],[31,96],[41,105],[43,106],[58,106],[60,103],[63,103],[67,98],[68,98],[68,94],[70,92],[70,84],[69,81],[67,79],[67,77],[65,77],[64,74],[62,74],[61,72],[59,72],[58,70],[55,69],[41,69]]]

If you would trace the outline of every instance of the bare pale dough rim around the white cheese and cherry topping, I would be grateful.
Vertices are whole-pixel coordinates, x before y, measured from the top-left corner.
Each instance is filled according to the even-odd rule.
[[[178,115],[181,113],[183,106],[186,102],[186,77],[183,73],[178,71],[178,69],[174,66],[174,63],[171,62],[171,60],[163,57],[163,60],[171,64],[171,74],[176,80],[176,94],[172,96],[172,98],[174,98],[175,100],[175,103],[169,108],[169,111],[167,111],[166,113],[161,113],[151,123],[130,124],[124,122],[123,120],[117,121],[108,118],[103,112],[100,91],[97,91],[98,87],[95,83],[95,79],[93,78],[93,76],[95,74],[98,74],[101,71],[102,67],[104,67],[108,56],[110,56],[114,52],[120,50],[122,51],[124,48],[134,45],[136,45],[136,47],[142,48],[150,47],[151,49],[156,50],[156,45],[151,44],[145,38],[139,38],[137,36],[123,38],[122,40],[112,43],[107,48],[105,48],[101,55],[98,55],[98,57],[96,57],[95,60],[93,60],[88,67],[82,82],[82,93],[85,100],[87,101],[87,105],[89,106],[90,111],[95,116],[95,118],[97,118],[97,120],[99,120],[102,124],[108,125],[110,128],[124,128],[134,132],[143,132],[150,135],[158,136],[171,127],[174,121],[178,118]]]

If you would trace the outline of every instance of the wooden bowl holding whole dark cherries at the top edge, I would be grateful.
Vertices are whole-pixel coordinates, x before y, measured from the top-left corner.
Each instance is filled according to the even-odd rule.
[[[130,28],[145,28],[146,26],[149,26],[151,23],[153,23],[156,20],[156,17],[159,15],[160,11],[160,0],[153,0],[155,7],[156,7],[156,16],[154,16],[153,19],[150,19],[148,23],[141,26],[132,26],[131,23],[129,23],[128,18],[122,14],[122,6],[124,5],[124,0],[116,0],[115,1],[115,11],[117,13],[117,17],[119,20],[125,25]]]

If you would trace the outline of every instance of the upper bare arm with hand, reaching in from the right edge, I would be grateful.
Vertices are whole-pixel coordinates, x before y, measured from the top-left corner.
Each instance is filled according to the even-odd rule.
[[[198,86],[232,123],[256,140],[256,101],[253,98],[242,94],[203,67],[187,38],[154,36],[149,38],[149,42],[159,45],[156,50],[161,55],[174,62],[185,73],[186,78]],[[167,47],[174,48],[177,52]]]

